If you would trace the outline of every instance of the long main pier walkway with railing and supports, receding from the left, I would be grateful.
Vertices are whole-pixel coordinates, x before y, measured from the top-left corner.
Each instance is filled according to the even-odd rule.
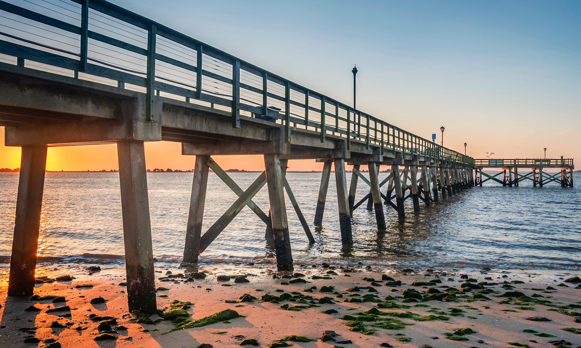
[[[345,245],[357,243],[350,216],[364,202],[375,210],[378,230],[385,230],[385,215],[404,219],[409,198],[415,213],[420,202],[426,207],[442,203],[474,186],[471,157],[112,3],[73,0],[59,6],[76,11],[79,20],[0,1],[0,9],[22,24],[0,32],[0,53],[8,61],[0,63],[0,125],[5,126],[6,146],[22,149],[10,296],[34,290],[46,151],[51,146],[117,144],[127,295],[130,311],[141,313],[156,311],[144,142],[180,142],[183,155],[196,156],[184,221],[184,266],[195,264],[248,206],[265,224],[278,270],[293,270],[285,191],[309,241],[314,239],[286,181],[289,160],[324,162],[314,225],[324,222],[334,168]],[[95,16],[99,23],[92,26]],[[27,26],[48,34],[30,34]],[[63,33],[79,38],[76,48],[63,43]],[[249,154],[264,156],[265,171],[246,190],[211,158]],[[354,168],[349,188],[346,164]],[[361,175],[361,165],[368,166],[369,179]],[[390,174],[380,183],[378,173],[386,166]],[[209,169],[238,199],[203,231]],[[370,186],[360,199],[359,179]],[[265,184],[268,213],[252,200]]]

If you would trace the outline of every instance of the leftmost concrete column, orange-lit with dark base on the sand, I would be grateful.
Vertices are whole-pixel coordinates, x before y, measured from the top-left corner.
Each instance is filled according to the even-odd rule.
[[[8,296],[34,291],[45,168],[46,146],[22,147]]]

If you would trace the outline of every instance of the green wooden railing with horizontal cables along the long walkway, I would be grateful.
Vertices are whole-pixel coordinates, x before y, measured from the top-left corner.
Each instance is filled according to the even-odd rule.
[[[0,0],[0,61],[471,165],[473,159],[103,0]],[[18,5],[16,5],[18,4]],[[24,6],[24,7],[23,7]]]

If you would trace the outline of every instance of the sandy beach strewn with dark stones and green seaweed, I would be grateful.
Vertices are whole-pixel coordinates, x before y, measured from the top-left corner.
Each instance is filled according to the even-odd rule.
[[[357,264],[345,268],[303,264],[303,267],[296,265],[297,274],[285,276],[276,273],[271,264],[208,264],[201,269],[187,270],[165,268],[167,270],[156,269],[156,276],[167,277],[168,271],[173,276],[157,281],[157,287],[167,289],[157,291],[157,307],[165,309],[160,314],[166,319],[171,317],[167,314],[171,309],[166,308],[172,302],[174,307],[187,311],[188,317],[182,318],[184,321],[180,324],[172,324],[157,314],[149,320],[132,317],[127,310],[124,274],[119,270],[71,274],[75,277],[72,281],[51,281],[63,273],[49,272],[44,274],[48,282],[35,287],[34,293],[40,297],[36,300],[31,300],[30,296],[6,298],[6,277],[0,283],[0,346],[45,347],[52,344],[51,347],[57,347],[56,343],[60,343],[63,347],[198,347],[208,343],[213,347],[225,347],[238,345],[245,339],[256,339],[260,346],[267,347],[289,335],[313,340],[286,341],[296,347],[354,348],[382,344],[434,348],[553,347],[558,346],[559,342],[555,341],[559,340],[564,340],[565,347],[581,346],[581,323],[575,322],[575,316],[579,315],[576,312],[581,311],[581,289],[576,288],[579,284],[564,282],[565,277],[551,280],[534,271],[516,274],[501,270],[386,270]],[[206,277],[201,278],[199,272]],[[227,276],[229,280],[218,281],[218,276]],[[248,282],[235,282],[235,277],[239,276],[245,276],[241,279]],[[575,276],[569,274],[569,277]],[[432,280],[436,282],[430,282]],[[397,285],[399,282],[401,285]],[[77,287],[87,284],[92,287]],[[462,286],[464,291],[461,291]],[[468,287],[474,289],[468,291]],[[416,291],[417,295],[412,294]],[[426,292],[436,299],[425,300]],[[507,297],[507,292],[513,292],[509,293],[512,296]],[[246,296],[240,302],[244,294],[256,299],[249,302]],[[265,294],[267,300],[272,296],[282,298],[278,297],[278,303],[274,303],[277,300],[261,302]],[[502,295],[505,296],[496,297]],[[42,296],[64,296],[64,302],[57,299],[59,302],[53,303],[51,299],[43,300]],[[91,303],[99,297],[105,302]],[[31,310],[30,306],[35,309]],[[64,306],[69,306],[70,310],[50,311]],[[233,313],[233,310],[239,317],[201,327],[180,328],[184,323],[187,327],[188,323],[196,323],[192,320],[227,309],[231,311],[222,313]],[[46,313],[47,310],[50,313]],[[106,321],[103,317],[115,320]],[[530,317],[546,319],[532,321],[528,320]],[[107,322],[113,324],[107,326]],[[564,328],[573,329],[565,331]],[[323,342],[320,338],[325,330],[334,331],[337,336],[330,335],[329,340]],[[104,331],[110,332],[113,339],[95,340]],[[24,343],[26,338],[38,342]],[[278,346],[284,346],[282,344]]]

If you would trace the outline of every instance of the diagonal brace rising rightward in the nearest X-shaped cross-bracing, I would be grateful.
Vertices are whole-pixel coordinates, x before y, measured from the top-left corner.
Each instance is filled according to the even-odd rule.
[[[246,205],[246,200],[254,197],[254,195],[256,195],[260,189],[262,189],[264,184],[266,184],[266,172],[262,172],[260,176],[257,177],[252,184],[250,184],[248,189],[246,189],[246,191],[244,191],[244,193],[238,197],[238,200],[236,200],[234,204],[228,208],[224,215],[220,216],[220,218],[214,222],[214,224],[206,231],[206,233],[202,235],[200,240],[200,253],[205,251],[210,243],[213,242],[216,237],[218,237],[218,235],[226,228],[226,226],[228,226],[229,223],[232,222],[232,220],[234,220],[236,215],[238,215],[238,213],[242,211],[242,208],[244,208]]]

